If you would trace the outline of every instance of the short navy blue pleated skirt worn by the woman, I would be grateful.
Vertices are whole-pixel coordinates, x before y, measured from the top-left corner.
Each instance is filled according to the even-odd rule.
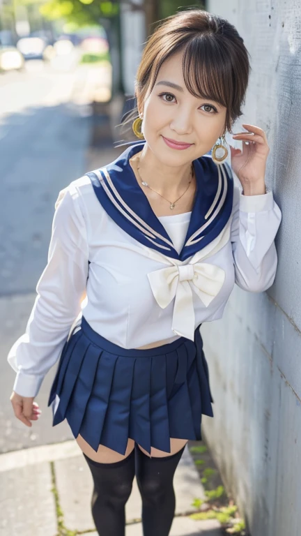
[[[97,451],[125,454],[128,438],[151,454],[171,452],[170,438],[201,439],[201,415],[213,417],[208,365],[199,328],[147,350],[107,341],[82,318],[61,353],[49,396],[53,425],[67,419]]]

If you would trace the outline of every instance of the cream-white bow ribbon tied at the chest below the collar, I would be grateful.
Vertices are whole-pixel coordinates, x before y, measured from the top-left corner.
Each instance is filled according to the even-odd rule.
[[[162,309],[175,297],[171,329],[174,333],[194,341],[194,306],[192,288],[203,304],[210,302],[224,284],[225,272],[215,265],[197,262],[173,265],[148,274],[151,290]]]

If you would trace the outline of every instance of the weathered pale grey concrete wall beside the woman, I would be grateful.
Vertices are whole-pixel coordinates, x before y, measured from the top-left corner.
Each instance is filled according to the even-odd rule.
[[[215,399],[203,433],[252,536],[299,536],[301,3],[211,0],[207,8],[236,25],[252,56],[243,119],[268,135],[266,182],[283,219],[272,288],[236,286],[224,318],[201,327]]]

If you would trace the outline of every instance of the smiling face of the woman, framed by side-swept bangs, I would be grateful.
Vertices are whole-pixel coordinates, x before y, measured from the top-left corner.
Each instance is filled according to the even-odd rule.
[[[147,144],[160,162],[170,166],[183,165],[210,151],[224,133],[226,122],[226,107],[188,91],[182,56],[179,52],[164,61],[153,91],[139,110]],[[190,145],[175,149],[164,138]]]

